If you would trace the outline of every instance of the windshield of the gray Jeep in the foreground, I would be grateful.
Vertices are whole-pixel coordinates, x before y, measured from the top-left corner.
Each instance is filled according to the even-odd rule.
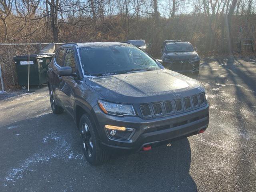
[[[150,56],[132,45],[82,47],[79,52],[86,75],[102,76],[161,69]]]

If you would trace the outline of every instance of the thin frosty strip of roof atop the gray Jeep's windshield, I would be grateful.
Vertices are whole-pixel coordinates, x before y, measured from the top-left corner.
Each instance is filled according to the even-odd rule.
[[[60,48],[75,46],[77,48],[82,47],[104,47],[104,46],[111,46],[111,45],[131,45],[127,42],[86,42],[86,43],[65,43]]]

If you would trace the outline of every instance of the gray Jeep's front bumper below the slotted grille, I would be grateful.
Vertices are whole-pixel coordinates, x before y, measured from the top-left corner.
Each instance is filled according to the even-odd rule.
[[[104,114],[98,105],[94,106],[98,120],[98,133],[102,147],[108,150],[137,152],[142,147],[152,146],[180,137],[198,134],[206,129],[209,123],[209,104],[206,106],[173,116],[142,119],[138,116],[111,116]],[[136,131],[128,140],[110,138],[104,128],[105,125],[124,126],[134,128]]]

